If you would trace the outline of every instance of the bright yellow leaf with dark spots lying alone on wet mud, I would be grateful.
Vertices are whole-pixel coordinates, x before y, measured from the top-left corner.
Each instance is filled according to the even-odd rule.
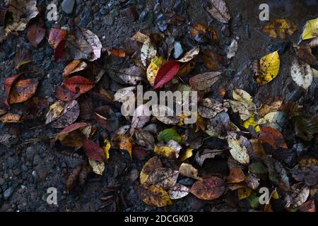
[[[262,57],[259,61],[259,76],[256,78],[257,83],[259,83],[259,85],[265,85],[276,78],[280,64],[281,61],[278,51]]]

